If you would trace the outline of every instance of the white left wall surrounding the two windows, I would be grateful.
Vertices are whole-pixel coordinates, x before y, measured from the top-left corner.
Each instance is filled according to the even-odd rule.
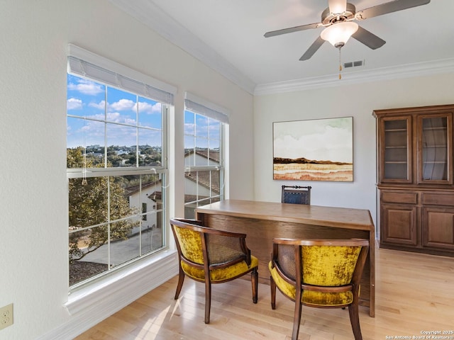
[[[184,213],[184,91],[231,111],[231,198],[253,198],[253,97],[106,0],[2,0],[0,32],[0,307],[14,304],[0,339],[36,339],[74,317],[63,307],[67,44],[177,86],[171,214]]]

